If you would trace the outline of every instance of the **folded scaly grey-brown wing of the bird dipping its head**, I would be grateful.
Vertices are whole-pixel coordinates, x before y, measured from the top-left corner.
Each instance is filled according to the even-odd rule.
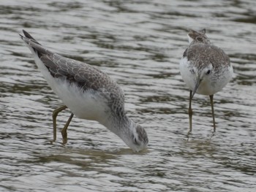
[[[54,78],[64,78],[84,91],[90,88],[113,94],[122,93],[117,83],[95,66],[56,53],[41,55],[40,60]]]

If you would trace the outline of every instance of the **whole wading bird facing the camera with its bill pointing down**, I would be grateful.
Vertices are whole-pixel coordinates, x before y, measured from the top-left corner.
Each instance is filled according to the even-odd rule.
[[[199,93],[210,96],[215,132],[214,94],[221,91],[227,82],[230,82],[233,76],[233,67],[230,64],[230,58],[224,51],[212,45],[206,37],[206,29],[190,30],[188,37],[189,47],[181,58],[179,68],[182,79],[190,89],[189,131],[192,131],[192,98],[195,93]]]

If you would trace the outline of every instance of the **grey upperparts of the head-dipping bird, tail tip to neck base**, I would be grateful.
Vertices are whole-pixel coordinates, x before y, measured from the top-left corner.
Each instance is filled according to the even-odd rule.
[[[124,92],[108,74],[89,64],[53,53],[42,47],[28,32],[23,30],[23,34],[25,37],[20,34],[21,39],[34,50],[54,78],[63,78],[70,84],[74,83],[82,91],[91,89],[101,92],[102,96],[107,97],[109,106],[116,115],[123,115]]]

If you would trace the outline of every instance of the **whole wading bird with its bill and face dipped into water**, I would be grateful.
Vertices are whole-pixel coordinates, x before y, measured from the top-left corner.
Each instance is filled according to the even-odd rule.
[[[73,118],[97,120],[118,135],[132,150],[138,152],[148,145],[144,128],[127,117],[124,111],[124,93],[108,74],[94,66],[65,58],[39,44],[23,30],[20,38],[34,56],[35,63],[64,106],[53,111],[53,141],[56,141],[56,118],[69,108],[72,112],[61,131],[67,143],[67,127]]]

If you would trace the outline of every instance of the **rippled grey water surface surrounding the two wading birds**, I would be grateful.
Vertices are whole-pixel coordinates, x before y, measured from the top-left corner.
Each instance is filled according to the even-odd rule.
[[[256,1],[1,1],[0,191],[255,191]],[[214,96],[189,91],[178,63],[189,28],[230,56],[233,80]],[[146,128],[133,153],[99,123],[73,118],[67,145],[51,112],[61,105],[18,33],[26,29],[61,55],[98,66],[126,94]]]

